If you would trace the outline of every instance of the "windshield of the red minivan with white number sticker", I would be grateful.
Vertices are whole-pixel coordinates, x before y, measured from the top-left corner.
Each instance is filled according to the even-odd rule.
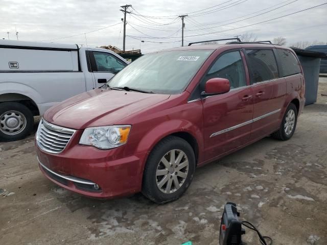
[[[167,51],[144,55],[114,76],[109,87],[138,89],[153,93],[177,94],[213,50]]]

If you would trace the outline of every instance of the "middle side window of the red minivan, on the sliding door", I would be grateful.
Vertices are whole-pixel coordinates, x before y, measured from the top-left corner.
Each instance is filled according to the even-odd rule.
[[[251,82],[278,78],[277,63],[272,50],[247,50]]]

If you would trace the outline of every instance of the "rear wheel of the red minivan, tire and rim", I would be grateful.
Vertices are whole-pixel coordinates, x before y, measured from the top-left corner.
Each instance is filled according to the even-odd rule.
[[[289,117],[294,119],[288,119]],[[285,111],[281,127],[279,127],[278,131],[274,132],[271,136],[279,140],[290,139],[294,134],[296,123],[297,123],[297,109],[296,106],[293,103],[291,103],[289,104],[289,106]],[[287,128],[287,125],[289,125],[289,128]],[[290,129],[291,126],[293,126],[292,129]]]

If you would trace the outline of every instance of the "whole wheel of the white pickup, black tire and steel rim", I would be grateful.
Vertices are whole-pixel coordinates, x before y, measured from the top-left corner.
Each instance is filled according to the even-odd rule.
[[[29,108],[17,102],[0,104],[0,141],[24,139],[33,130],[34,118]]]

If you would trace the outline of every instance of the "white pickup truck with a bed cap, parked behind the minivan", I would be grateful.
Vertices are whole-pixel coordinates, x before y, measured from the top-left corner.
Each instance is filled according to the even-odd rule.
[[[24,138],[33,116],[100,87],[126,65],[103,48],[0,40],[0,141]]]

